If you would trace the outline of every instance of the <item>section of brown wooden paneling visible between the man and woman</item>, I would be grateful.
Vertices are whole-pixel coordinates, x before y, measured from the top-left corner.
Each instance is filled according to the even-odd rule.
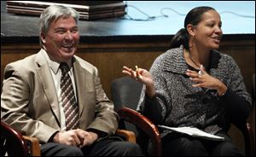
[[[154,59],[166,51],[168,44],[163,45],[165,44],[111,44],[101,48],[80,48],[77,55],[98,67],[103,89],[111,99],[110,83],[114,78],[125,76],[122,67],[135,68],[137,65],[149,69]]]

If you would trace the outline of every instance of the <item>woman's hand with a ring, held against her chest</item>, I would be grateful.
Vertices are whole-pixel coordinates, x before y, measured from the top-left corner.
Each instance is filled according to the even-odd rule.
[[[223,96],[228,89],[227,86],[218,78],[213,78],[209,75],[202,65],[198,73],[188,69],[186,75],[189,76],[190,80],[196,83],[193,84],[193,87],[204,87],[217,90],[218,96]]]

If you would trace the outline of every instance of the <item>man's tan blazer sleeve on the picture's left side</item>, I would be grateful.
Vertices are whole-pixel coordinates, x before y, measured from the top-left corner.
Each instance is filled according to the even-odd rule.
[[[44,94],[35,94],[40,93],[37,92],[38,88],[42,88],[37,84],[39,81],[36,77],[37,73],[31,70],[31,67],[28,70],[29,66],[24,63],[24,61],[16,61],[5,67],[1,94],[1,120],[22,134],[37,137],[40,142],[48,142],[49,138],[58,131],[58,125],[52,113],[47,111],[49,102]],[[35,97],[40,97],[40,100],[35,101]],[[49,121],[52,125],[46,125],[44,121]]]

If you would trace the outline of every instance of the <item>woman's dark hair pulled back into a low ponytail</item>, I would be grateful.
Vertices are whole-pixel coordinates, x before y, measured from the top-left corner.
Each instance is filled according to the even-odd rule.
[[[180,29],[172,38],[171,48],[178,48],[181,44],[183,44],[185,49],[189,49],[189,33],[186,27],[189,24],[196,26],[201,21],[201,15],[209,10],[215,9],[207,6],[201,6],[196,7],[195,9],[191,9],[185,17],[184,28]]]

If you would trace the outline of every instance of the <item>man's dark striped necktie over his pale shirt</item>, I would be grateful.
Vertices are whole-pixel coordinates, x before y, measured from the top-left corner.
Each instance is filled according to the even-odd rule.
[[[67,131],[79,127],[79,107],[75,99],[73,84],[68,74],[67,63],[61,63],[61,102],[64,108]]]

